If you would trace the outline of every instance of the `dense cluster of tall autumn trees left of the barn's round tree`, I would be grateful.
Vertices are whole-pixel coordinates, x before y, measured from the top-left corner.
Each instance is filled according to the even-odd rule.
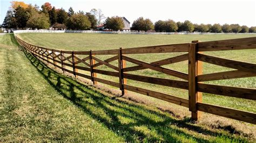
[[[95,29],[96,25],[102,23],[104,18],[100,9],[92,9],[90,12],[75,12],[70,7],[66,12],[63,8],[56,9],[48,2],[39,9],[37,5],[12,1],[2,26],[8,29],[48,29],[52,27],[60,30],[89,30]]]

